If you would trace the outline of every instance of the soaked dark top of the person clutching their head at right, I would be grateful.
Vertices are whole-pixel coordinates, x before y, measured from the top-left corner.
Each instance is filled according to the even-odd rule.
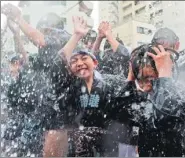
[[[182,156],[185,100],[172,79],[153,81],[153,92],[138,93],[138,98],[120,97],[112,111],[120,122],[139,127],[139,156]],[[121,108],[122,105],[122,108]],[[130,105],[130,108],[123,108]],[[128,119],[130,118],[130,119]],[[172,145],[173,144],[173,145]],[[174,150],[175,149],[175,150]]]

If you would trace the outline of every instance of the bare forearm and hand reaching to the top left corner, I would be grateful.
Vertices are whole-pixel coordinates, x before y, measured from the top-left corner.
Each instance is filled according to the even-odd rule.
[[[12,4],[5,4],[2,7],[1,12],[16,22],[24,34],[33,42],[35,46],[43,47],[46,45],[44,35],[23,19],[21,11],[16,6]]]

